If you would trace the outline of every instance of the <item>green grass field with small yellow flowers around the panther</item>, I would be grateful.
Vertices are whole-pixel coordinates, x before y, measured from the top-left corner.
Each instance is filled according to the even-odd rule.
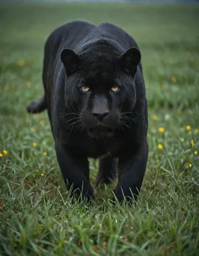
[[[0,255],[199,255],[199,6],[46,4],[0,7]],[[137,207],[111,188],[68,197],[43,94],[43,47],[76,19],[113,22],[137,40],[149,103],[149,161]],[[163,128],[163,129],[159,129]],[[90,160],[94,182],[97,161]]]

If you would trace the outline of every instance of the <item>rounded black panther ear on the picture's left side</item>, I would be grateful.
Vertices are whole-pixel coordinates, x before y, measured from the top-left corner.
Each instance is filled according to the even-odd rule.
[[[60,54],[67,76],[72,75],[80,66],[80,57],[73,50],[65,48]]]

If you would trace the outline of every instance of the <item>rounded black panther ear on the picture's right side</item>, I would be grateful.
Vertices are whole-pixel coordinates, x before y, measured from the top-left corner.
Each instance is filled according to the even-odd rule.
[[[121,57],[120,57],[120,66],[124,68],[126,72],[136,72],[137,65],[141,60],[141,54],[139,49],[133,47],[128,49]]]

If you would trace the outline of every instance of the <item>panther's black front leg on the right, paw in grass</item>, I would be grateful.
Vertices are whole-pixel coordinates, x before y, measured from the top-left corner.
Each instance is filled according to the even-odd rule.
[[[135,149],[136,148],[136,149]],[[128,148],[128,152],[119,158],[118,164],[118,185],[113,191],[118,201],[126,197],[127,201],[137,199],[148,159],[148,143],[145,139],[134,148]]]

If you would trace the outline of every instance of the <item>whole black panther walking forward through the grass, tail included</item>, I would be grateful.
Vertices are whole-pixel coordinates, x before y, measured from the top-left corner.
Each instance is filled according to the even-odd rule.
[[[141,53],[121,28],[70,22],[45,44],[39,102],[47,109],[64,181],[72,191],[94,198],[88,158],[99,158],[95,186],[114,181],[122,202],[137,199],[148,159],[148,110]]]

